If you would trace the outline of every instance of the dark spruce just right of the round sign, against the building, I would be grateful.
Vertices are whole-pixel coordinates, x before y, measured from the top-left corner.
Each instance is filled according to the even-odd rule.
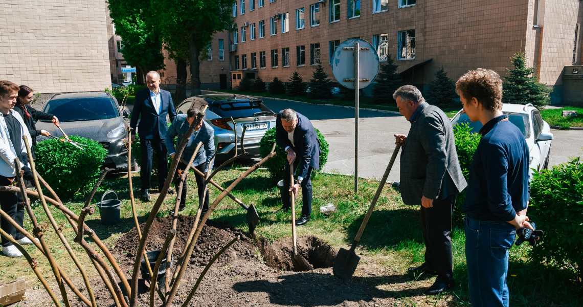
[[[388,54],[387,62],[381,65],[381,71],[375,80],[377,83],[373,86],[373,97],[377,102],[396,103],[393,93],[403,85],[401,75],[396,73],[398,68],[399,65],[395,64],[391,54]]]

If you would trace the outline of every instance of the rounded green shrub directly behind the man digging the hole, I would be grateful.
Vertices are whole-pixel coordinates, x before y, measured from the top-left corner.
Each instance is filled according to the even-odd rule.
[[[319,162],[320,169],[322,169],[324,168],[324,165],[326,165],[326,161],[328,161],[328,142],[326,142],[324,135],[322,135],[318,129],[314,128],[314,130],[316,130],[316,134],[318,134],[318,139],[320,141],[321,153]],[[265,158],[269,155],[274,142],[275,127],[265,131],[265,135],[261,138],[261,141],[259,141],[259,155],[261,155],[261,158]],[[284,163],[287,163],[287,153],[280,146],[275,146],[275,152],[277,152],[277,155],[266,162],[264,166],[269,170],[273,179],[281,180],[283,179],[283,172],[285,172]]]

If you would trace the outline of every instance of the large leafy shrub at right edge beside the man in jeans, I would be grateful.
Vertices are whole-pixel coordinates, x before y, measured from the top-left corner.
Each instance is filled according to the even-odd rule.
[[[566,269],[583,280],[583,161],[581,157],[535,172],[528,217],[545,236],[529,250],[535,263]]]

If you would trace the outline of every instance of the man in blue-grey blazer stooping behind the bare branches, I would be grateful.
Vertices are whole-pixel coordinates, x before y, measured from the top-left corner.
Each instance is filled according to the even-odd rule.
[[[170,152],[170,156],[174,159],[174,153],[176,149],[174,148],[174,138],[178,137],[177,144],[180,144],[182,138],[185,137],[188,128],[196,118],[202,118],[203,114],[201,114],[201,110],[199,109],[189,109],[187,114],[178,114],[176,119],[168,128],[168,132],[166,132],[166,148],[168,148],[168,152]],[[184,148],[184,152],[182,152],[182,156],[180,157],[182,160],[188,162],[192,155],[195,154],[194,150],[199,142],[202,142],[203,146],[198,149],[198,155],[192,162],[192,165],[200,170],[203,173],[206,173],[207,170],[213,169],[212,159],[215,156],[215,141],[213,140],[215,136],[215,130],[210,127],[209,124],[205,123],[204,120],[194,128],[194,132],[192,132],[191,138],[188,140],[186,148]],[[188,172],[187,165],[185,163],[179,162],[178,168],[176,169],[176,173],[174,174],[174,186],[178,189],[178,184],[180,184],[180,172]],[[202,204],[202,214],[205,214],[206,210],[209,209],[209,191],[206,190],[205,201],[202,203],[203,192],[205,191],[204,186],[204,178],[198,173],[194,174],[196,178],[196,187],[198,188],[198,201],[199,205]],[[180,211],[184,210],[185,202],[186,202],[186,188],[187,185],[182,185],[182,193],[180,195],[180,207],[178,208]]]

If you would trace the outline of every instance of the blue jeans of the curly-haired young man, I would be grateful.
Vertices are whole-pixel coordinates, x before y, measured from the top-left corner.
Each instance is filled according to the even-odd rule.
[[[465,218],[468,288],[474,307],[508,307],[508,249],[516,230],[507,222]]]

